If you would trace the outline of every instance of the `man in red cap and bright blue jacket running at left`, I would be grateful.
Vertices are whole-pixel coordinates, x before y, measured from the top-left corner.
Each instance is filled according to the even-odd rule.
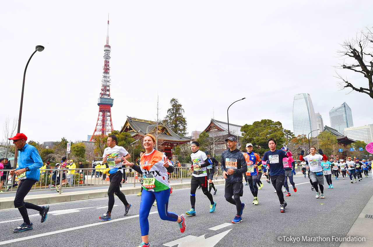
[[[22,215],[23,223],[13,230],[13,232],[23,232],[32,230],[33,226],[28,218],[27,209],[34,209],[40,212],[41,223],[46,221],[49,206],[38,206],[23,199],[28,194],[32,186],[40,179],[40,167],[43,166],[38,150],[31,145],[26,144],[27,137],[23,133],[16,134],[13,140],[14,145],[18,148],[18,167],[10,171],[10,175],[16,174],[19,182],[16,197],[14,198],[14,207],[18,208]]]

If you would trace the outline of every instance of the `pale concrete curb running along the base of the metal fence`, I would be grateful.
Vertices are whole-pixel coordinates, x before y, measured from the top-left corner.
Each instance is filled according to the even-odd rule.
[[[213,181],[216,185],[221,185],[225,183],[225,179],[218,179]],[[190,188],[189,183],[172,183],[171,187],[175,189],[184,189]],[[124,187],[120,188],[125,195],[133,195],[139,193],[141,187]],[[96,198],[105,198],[107,197],[107,189],[97,189],[97,190],[84,190],[84,191],[74,191],[74,192],[65,192],[61,195],[31,195],[25,197],[25,202],[33,203],[36,205],[45,205],[58,202],[72,202],[86,199],[96,199]],[[14,208],[14,196],[0,198],[0,209],[10,209]]]

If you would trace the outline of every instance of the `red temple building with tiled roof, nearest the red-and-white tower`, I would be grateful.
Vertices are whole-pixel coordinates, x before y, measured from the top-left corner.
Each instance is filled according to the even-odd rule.
[[[158,133],[158,150],[166,153],[167,157],[172,157],[172,150],[175,146],[191,141],[190,138],[177,135],[166,125],[158,124],[158,132],[156,129],[157,122],[127,117],[120,132],[129,133],[132,138],[140,140],[142,140],[146,134],[152,134],[156,137],[156,133]]]

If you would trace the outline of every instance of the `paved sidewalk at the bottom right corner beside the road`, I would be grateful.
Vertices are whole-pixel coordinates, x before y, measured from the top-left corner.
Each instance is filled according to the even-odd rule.
[[[370,179],[370,178],[369,178]],[[372,247],[373,246],[373,195],[346,236],[366,238],[365,242],[342,242],[339,247]]]

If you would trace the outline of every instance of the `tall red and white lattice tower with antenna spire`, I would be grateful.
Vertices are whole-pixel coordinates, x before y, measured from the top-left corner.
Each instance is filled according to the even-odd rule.
[[[97,102],[98,117],[97,124],[90,141],[94,139],[95,135],[108,135],[114,130],[111,111],[114,99],[110,97],[110,49],[111,47],[109,45],[109,20],[107,20],[106,45],[104,45],[104,72],[102,74],[101,93]]]

